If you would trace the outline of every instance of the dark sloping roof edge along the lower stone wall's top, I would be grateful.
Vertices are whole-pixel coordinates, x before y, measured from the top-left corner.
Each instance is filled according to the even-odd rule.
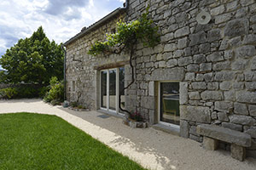
[[[75,35],[74,37],[72,37],[69,40],[67,40],[67,42],[64,42],[63,45],[67,46],[68,44],[70,44],[70,43],[74,42],[75,40],[79,39],[79,37],[83,37],[86,33],[92,31],[97,26],[101,26],[104,22],[106,22],[107,20],[111,19],[113,16],[125,12],[125,10],[126,10],[126,8],[116,8],[110,14],[107,14],[101,20],[96,21],[96,23],[94,23],[93,25],[89,26],[87,29],[82,29],[82,31],[80,31],[77,35]]]

